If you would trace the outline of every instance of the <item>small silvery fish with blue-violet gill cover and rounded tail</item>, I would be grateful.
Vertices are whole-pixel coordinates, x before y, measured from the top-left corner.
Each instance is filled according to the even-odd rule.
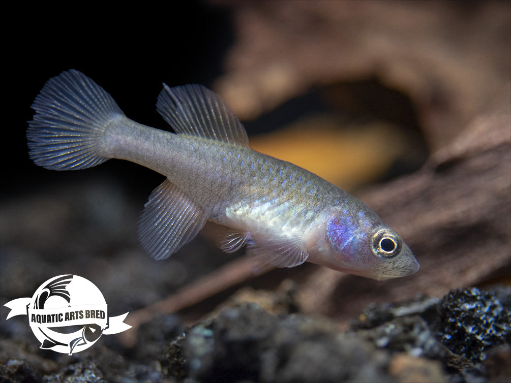
[[[238,117],[203,86],[164,83],[156,108],[176,133],[132,121],[77,70],[50,79],[32,108],[27,138],[37,165],[76,170],[118,158],[167,177],[138,225],[142,247],[156,259],[175,253],[212,221],[223,251],[246,245],[275,267],[308,261],[374,279],[419,270],[402,238],[358,199],[251,150]]]

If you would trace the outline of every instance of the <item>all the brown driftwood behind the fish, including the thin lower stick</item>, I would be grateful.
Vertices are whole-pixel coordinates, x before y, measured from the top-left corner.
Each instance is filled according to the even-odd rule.
[[[293,274],[303,312],[345,327],[371,302],[509,282],[509,3],[277,2],[233,11],[237,41],[216,89],[242,119],[317,84],[377,77],[408,95],[431,153],[416,173],[358,195],[400,232],[421,270],[379,282],[305,266]],[[131,313],[131,324],[241,286],[251,267],[234,261]]]

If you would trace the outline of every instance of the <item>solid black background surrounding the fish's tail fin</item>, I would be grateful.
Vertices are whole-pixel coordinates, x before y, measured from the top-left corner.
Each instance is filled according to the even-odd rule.
[[[4,27],[2,199],[41,184],[72,182],[90,170],[52,172],[28,156],[25,132],[30,108],[44,83],[61,71],[82,71],[135,121],[169,129],[156,112],[161,83],[210,85],[222,73],[222,56],[233,40],[229,11],[204,2],[175,2],[141,11],[135,7],[51,9],[18,7]],[[127,182],[147,195],[161,177],[126,161],[93,171]],[[128,179],[129,178],[129,179]]]

